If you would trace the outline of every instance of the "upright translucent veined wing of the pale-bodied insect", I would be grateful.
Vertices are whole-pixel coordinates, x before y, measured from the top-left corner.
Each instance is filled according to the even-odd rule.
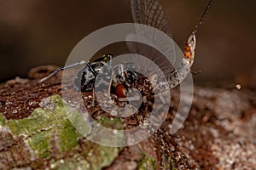
[[[172,64],[176,59],[175,48],[170,38],[172,37],[171,26],[160,3],[157,0],[131,0],[131,14],[134,22],[140,25],[136,26],[137,34],[129,36],[137,37],[137,39],[147,39],[146,42],[152,42],[160,47],[160,51],[164,52],[164,54],[150,45],[138,42],[127,42],[128,48],[132,54],[140,54],[154,61],[154,64],[158,65],[165,76],[170,77],[173,71]],[[155,29],[150,29],[151,27],[148,29],[148,26]],[[166,35],[162,36],[159,30],[166,33]],[[166,54],[168,55],[167,58]],[[146,71],[147,74],[150,74],[150,72],[156,73],[159,70],[155,68],[155,65],[151,65],[150,62],[141,61],[136,57],[133,58],[133,61],[139,65],[138,69],[140,71]]]

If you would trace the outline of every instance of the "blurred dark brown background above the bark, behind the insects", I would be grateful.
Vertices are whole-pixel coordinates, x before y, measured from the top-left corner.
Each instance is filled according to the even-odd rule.
[[[182,49],[207,2],[160,0]],[[197,34],[195,84],[256,87],[255,7],[255,0],[214,1]],[[124,22],[132,22],[129,0],[0,0],[0,82],[37,65],[64,65],[90,32]]]

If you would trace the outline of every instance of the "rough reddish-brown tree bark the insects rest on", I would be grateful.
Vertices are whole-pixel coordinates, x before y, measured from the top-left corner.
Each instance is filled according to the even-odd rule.
[[[178,91],[173,90],[170,113],[160,129],[140,144],[115,151],[109,149],[113,153],[118,153],[118,156],[111,158],[113,160],[110,163],[102,164],[102,167],[93,166],[110,160],[108,156],[99,154],[102,156],[101,159],[90,159],[90,154],[84,156],[81,153],[89,150],[88,145],[90,150],[105,149],[100,145],[92,144],[84,137],[79,137],[78,145],[70,150],[60,150],[59,143],[53,138],[50,140],[49,155],[35,156],[32,154],[31,146],[27,146],[24,142],[29,136],[15,134],[14,128],[6,124],[9,123],[10,126],[11,123],[30,117],[32,111],[40,107],[39,103],[42,99],[55,94],[61,95],[61,74],[44,84],[37,83],[40,77],[44,77],[55,68],[51,65],[37,67],[29,72],[29,79],[17,77],[1,85],[0,113],[3,117],[0,124],[0,169],[15,167],[55,169],[64,165],[69,168],[88,166],[96,169],[253,169],[256,167],[255,91],[207,86],[195,87],[189,117],[176,134],[169,134],[169,127],[179,101]],[[73,75],[74,72],[71,70],[70,77]],[[86,104],[89,105],[88,103],[90,101]],[[96,111],[96,114],[101,114],[101,111]],[[37,133],[44,134],[45,131],[47,128]]]

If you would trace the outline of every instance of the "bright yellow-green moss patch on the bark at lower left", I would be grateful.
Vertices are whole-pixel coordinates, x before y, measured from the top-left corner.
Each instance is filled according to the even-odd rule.
[[[72,150],[81,137],[67,117],[61,96],[49,97],[49,102],[55,105],[53,111],[37,108],[27,118],[9,120],[12,133],[28,136],[26,143],[35,151],[33,154],[44,158],[50,157],[50,141],[55,137],[61,151]]]

